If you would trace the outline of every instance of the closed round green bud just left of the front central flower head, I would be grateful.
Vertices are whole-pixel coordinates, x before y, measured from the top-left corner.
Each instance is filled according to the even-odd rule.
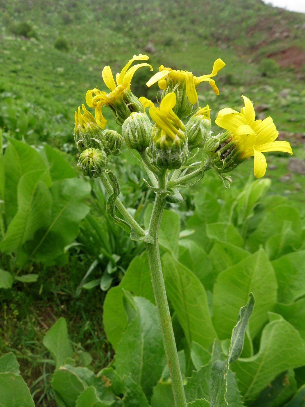
[[[153,125],[144,113],[132,113],[122,125],[126,146],[131,150],[144,151],[150,143]]]

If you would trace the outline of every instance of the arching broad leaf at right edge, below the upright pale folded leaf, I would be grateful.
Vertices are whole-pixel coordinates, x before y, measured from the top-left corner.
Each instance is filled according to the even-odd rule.
[[[291,205],[276,206],[262,219],[256,230],[251,234],[246,242],[246,248],[251,252],[259,249],[266,241],[274,235],[281,234],[290,222],[291,229],[297,236],[301,235],[300,214]]]

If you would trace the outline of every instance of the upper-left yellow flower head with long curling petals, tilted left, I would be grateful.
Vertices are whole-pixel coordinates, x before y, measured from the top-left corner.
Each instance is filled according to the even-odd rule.
[[[105,85],[111,92],[106,93],[94,88],[88,90],[86,94],[86,103],[89,107],[94,107],[95,117],[98,125],[103,129],[106,126],[107,120],[102,115],[102,107],[108,105],[113,109],[118,122],[122,124],[126,117],[129,116],[131,112],[138,112],[139,109],[142,111],[142,104],[139,100],[130,92],[130,83],[136,70],[142,66],[149,66],[152,71],[153,68],[148,63],[139,63],[130,68],[134,61],[147,61],[147,55],[134,55],[132,59],[124,66],[120,73],[115,76],[116,83],[113,79],[113,74],[111,72],[110,66],[105,66],[102,70],[102,79]],[[93,96],[93,94],[95,96]],[[132,108],[132,110],[129,109]]]

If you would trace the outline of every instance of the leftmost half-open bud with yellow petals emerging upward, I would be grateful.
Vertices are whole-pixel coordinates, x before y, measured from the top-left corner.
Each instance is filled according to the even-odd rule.
[[[78,111],[74,115],[74,141],[78,151],[82,153],[89,148],[103,149],[102,129],[100,129],[92,114],[85,108],[85,105],[82,105],[82,109],[83,114],[81,114],[81,108],[78,106]]]

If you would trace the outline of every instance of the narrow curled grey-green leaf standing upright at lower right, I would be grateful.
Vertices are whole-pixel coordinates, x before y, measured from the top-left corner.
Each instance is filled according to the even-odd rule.
[[[252,293],[249,294],[249,297],[250,298],[247,304],[240,309],[237,324],[232,331],[231,343],[228,352],[228,363],[235,362],[242,353],[246,327],[255,304],[255,299]]]

